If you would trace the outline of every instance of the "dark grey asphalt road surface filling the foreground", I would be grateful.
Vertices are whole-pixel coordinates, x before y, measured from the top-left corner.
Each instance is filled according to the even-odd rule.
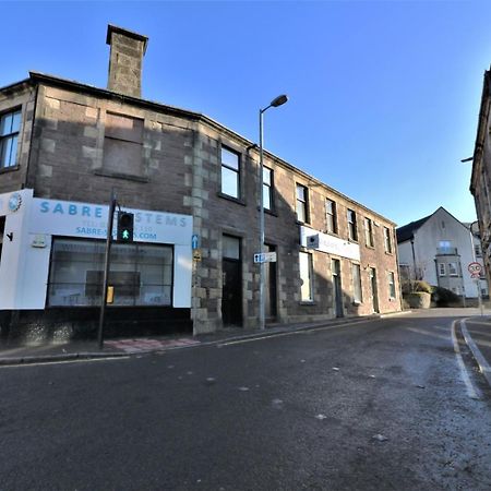
[[[0,490],[489,490],[490,391],[424,315],[0,368]]]

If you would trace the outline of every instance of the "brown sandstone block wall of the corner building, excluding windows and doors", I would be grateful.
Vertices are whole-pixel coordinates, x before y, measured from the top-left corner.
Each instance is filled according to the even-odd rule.
[[[22,97],[19,104],[32,117],[32,93]],[[142,158],[135,169],[118,171],[105,166],[107,113],[143,121]],[[34,188],[35,196],[108,203],[115,189],[122,206],[192,215],[202,254],[201,261],[193,264],[191,318],[195,333],[223,327],[223,236],[240,238],[242,325],[258,326],[260,270],[253,263],[253,254],[260,250],[259,154],[250,142],[199,115],[128,101],[104,91],[75,91],[62,84],[39,86],[36,115],[25,177],[26,187]],[[23,141],[29,142],[29,136],[26,124]],[[221,146],[240,155],[238,200],[220,191]],[[357,213],[363,302],[352,302],[352,262],[335,258],[340,261],[344,314],[372,313],[370,267],[378,271],[380,311],[399,310],[393,224],[267,153],[264,164],[274,172],[274,207],[265,212],[265,242],[276,248],[278,258],[276,321],[303,322],[335,315],[331,271],[335,256],[299,246],[301,224],[295,212],[296,183],[309,190],[309,226],[319,231],[326,230],[326,197],[337,204],[337,236],[343,240],[348,237],[347,208]],[[26,175],[26,168],[23,157],[17,173]],[[5,191],[12,190],[12,182],[5,179],[0,179],[0,184]],[[364,243],[364,217],[374,224],[373,248]],[[384,249],[384,226],[391,229],[392,253]],[[307,303],[300,299],[300,250],[313,258],[313,301]],[[396,299],[388,295],[387,272],[395,273]]]

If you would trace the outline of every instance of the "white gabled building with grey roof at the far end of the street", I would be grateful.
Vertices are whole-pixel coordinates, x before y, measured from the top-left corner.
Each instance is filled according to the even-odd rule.
[[[440,207],[432,215],[397,229],[402,278],[423,279],[467,298],[489,295],[479,236]],[[472,279],[470,263],[481,265],[481,275]]]

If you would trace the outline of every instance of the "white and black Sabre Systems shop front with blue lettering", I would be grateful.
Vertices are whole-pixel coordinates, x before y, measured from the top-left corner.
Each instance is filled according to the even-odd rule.
[[[192,217],[124,211],[134,214],[134,237],[112,243],[109,332],[191,328]],[[107,205],[34,197],[32,190],[0,195],[0,311],[11,336],[33,336],[34,326],[44,338],[94,333],[107,216]]]

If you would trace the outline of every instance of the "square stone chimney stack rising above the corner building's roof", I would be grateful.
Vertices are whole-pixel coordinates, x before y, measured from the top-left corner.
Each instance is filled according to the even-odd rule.
[[[132,97],[142,97],[142,61],[148,38],[116,25],[107,26],[106,43],[109,57],[109,91]]]

